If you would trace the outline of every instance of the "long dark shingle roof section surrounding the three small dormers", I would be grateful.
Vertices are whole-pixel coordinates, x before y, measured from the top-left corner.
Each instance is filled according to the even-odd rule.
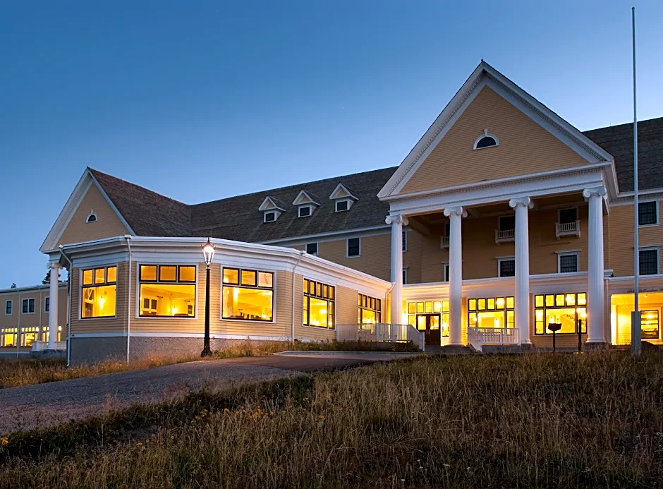
[[[377,193],[394,171],[395,167],[364,171],[192,205],[191,233],[257,242],[379,226],[389,214],[389,204],[380,202]],[[353,188],[359,198],[346,212],[334,212],[334,201],[329,199],[339,183]],[[297,208],[291,205],[302,190],[311,198],[320,199],[320,207],[310,217],[297,217]],[[262,222],[262,212],[257,210],[267,195],[287,203],[286,212],[274,222]]]

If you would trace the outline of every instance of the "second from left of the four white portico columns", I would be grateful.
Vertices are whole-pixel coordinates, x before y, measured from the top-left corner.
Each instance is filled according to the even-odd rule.
[[[447,207],[449,217],[449,344],[461,345],[463,321],[463,241],[461,218],[468,215],[463,207]]]

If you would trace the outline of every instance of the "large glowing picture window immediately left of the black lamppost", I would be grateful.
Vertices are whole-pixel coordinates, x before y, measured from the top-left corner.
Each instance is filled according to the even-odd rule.
[[[194,265],[140,265],[139,315],[157,318],[195,316]]]

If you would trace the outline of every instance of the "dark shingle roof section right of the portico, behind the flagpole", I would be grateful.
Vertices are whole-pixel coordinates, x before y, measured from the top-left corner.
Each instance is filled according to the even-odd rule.
[[[583,133],[614,156],[619,191],[633,192],[633,123]],[[638,188],[663,187],[663,117],[638,121]]]

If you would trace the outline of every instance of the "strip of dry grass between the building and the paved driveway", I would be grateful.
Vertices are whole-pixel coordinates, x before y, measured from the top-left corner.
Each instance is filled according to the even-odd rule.
[[[286,350],[344,350],[344,351],[375,351],[372,342],[236,342],[214,351],[208,360],[220,358],[237,358],[241,356],[264,356]],[[418,351],[412,342],[391,344],[389,351]],[[121,360],[106,360],[98,363],[82,363],[67,367],[64,360],[39,359],[8,359],[0,360],[0,389],[18,387],[20,385],[43,384],[57,380],[76,379],[103,375],[106,373],[123,372],[152,368],[173,363],[184,363],[200,360],[199,355],[153,356],[133,360],[130,363]]]

